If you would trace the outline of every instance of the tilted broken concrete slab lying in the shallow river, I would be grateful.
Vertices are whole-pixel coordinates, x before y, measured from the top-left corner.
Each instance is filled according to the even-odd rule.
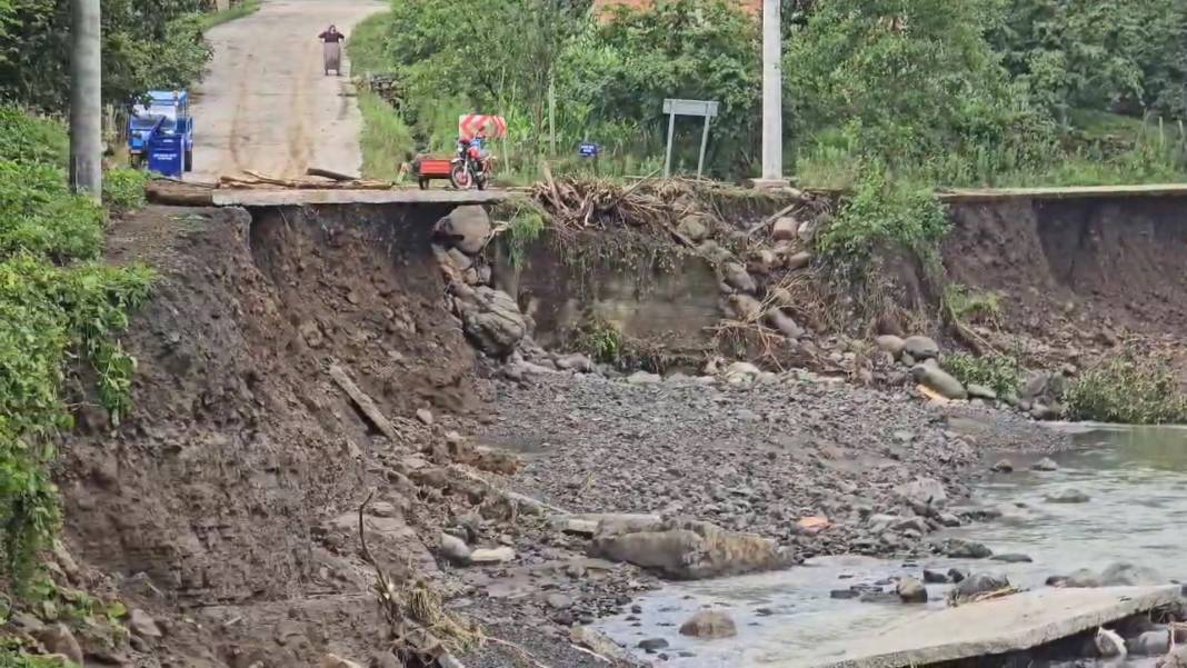
[[[1179,586],[1043,589],[904,615],[770,668],[903,668],[1017,651],[1182,600]]]

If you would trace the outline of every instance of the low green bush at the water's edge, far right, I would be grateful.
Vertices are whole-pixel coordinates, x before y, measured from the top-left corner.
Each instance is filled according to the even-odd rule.
[[[1068,386],[1064,401],[1073,420],[1187,422],[1187,395],[1166,360],[1106,360],[1081,373]]]

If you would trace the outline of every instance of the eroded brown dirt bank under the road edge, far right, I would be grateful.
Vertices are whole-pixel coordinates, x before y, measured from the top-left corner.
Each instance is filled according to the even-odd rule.
[[[1001,293],[1003,326],[1037,358],[1164,351],[1182,361],[1187,214],[1174,197],[956,204],[952,280]]]

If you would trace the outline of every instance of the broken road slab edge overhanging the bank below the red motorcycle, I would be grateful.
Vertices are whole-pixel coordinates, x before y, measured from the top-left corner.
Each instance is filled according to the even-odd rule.
[[[489,204],[506,190],[231,190],[211,192],[215,206],[304,206],[310,204]]]

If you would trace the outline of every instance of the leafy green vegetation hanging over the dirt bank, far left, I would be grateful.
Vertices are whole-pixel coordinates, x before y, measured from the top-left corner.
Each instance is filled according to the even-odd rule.
[[[0,113],[17,119],[12,109]],[[23,593],[58,524],[47,466],[58,432],[72,425],[66,377],[89,367],[100,402],[119,421],[135,361],[116,337],[147,298],[152,273],[96,262],[106,216],[65,186],[64,131],[18,122],[44,140],[0,135],[0,575]],[[134,205],[139,178],[112,178],[110,201]]]

